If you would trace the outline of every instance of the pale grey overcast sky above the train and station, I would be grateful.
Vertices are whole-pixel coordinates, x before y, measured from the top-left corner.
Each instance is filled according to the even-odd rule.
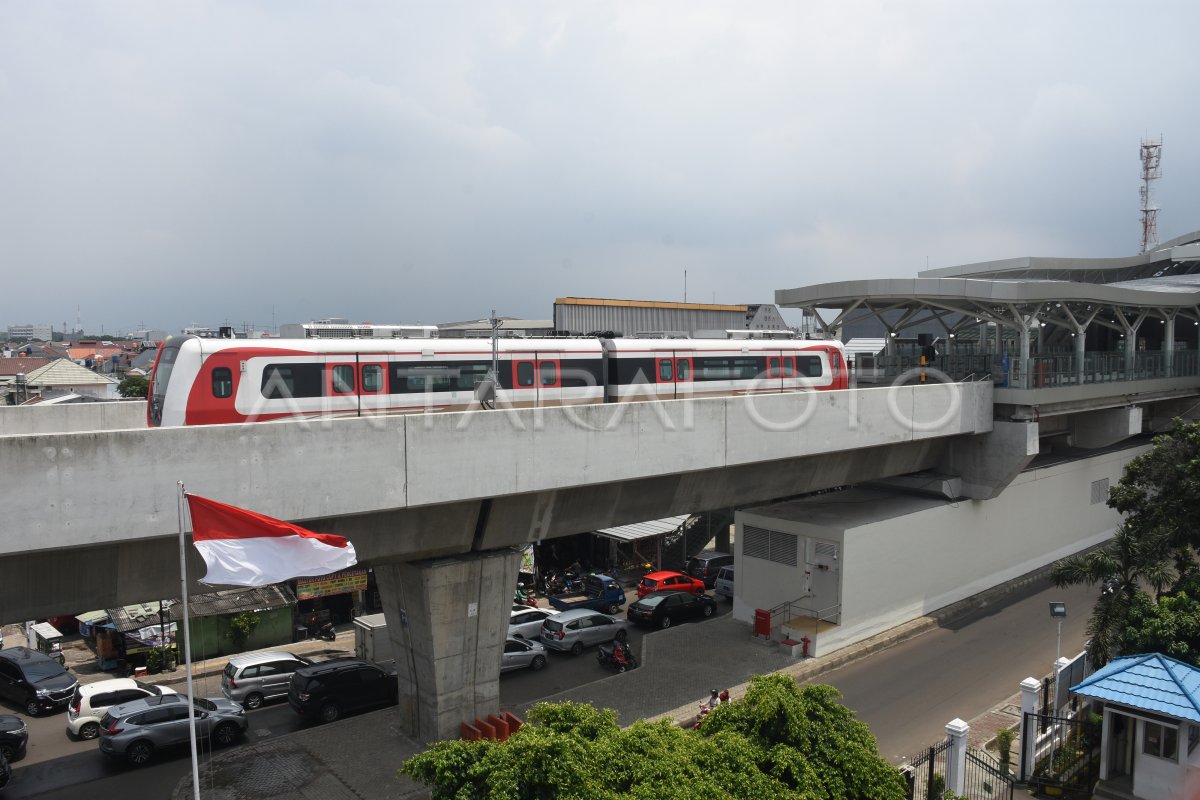
[[[0,0],[0,325],[550,318],[1200,229],[1200,5]]]

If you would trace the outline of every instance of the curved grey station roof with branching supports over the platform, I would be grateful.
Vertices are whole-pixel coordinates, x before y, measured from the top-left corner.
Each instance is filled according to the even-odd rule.
[[[964,338],[980,324],[1015,331],[1054,325],[1070,333],[1099,325],[1122,335],[1148,319],[1200,324],[1200,231],[1130,258],[988,261],[916,278],[780,289],[775,301],[803,308],[826,331],[871,318],[895,335],[934,321]]]

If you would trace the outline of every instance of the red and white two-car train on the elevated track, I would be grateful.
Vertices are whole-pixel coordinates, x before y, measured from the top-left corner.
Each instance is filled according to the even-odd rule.
[[[497,408],[846,389],[841,343],[502,338]],[[151,427],[480,408],[490,339],[205,339],[158,349]]]

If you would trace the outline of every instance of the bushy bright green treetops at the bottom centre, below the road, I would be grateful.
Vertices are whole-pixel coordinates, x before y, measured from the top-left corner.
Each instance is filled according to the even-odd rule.
[[[539,703],[505,742],[437,742],[401,771],[436,800],[901,800],[904,778],[838,699],[828,686],[755,678],[700,733],[622,729],[610,710]]]

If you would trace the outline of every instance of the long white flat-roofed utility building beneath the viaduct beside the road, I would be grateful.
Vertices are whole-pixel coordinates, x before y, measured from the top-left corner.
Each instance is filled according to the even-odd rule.
[[[1120,480],[1147,447],[1022,473],[992,500],[940,500],[851,489],[738,512],[742,525],[842,541],[841,625],[821,650],[916,619],[1109,539],[1120,516],[1093,504],[1092,482]],[[1106,493],[1105,495],[1106,497]],[[734,616],[794,600],[803,559],[791,575],[760,559],[738,560]],[[769,587],[768,591],[766,588]],[[752,602],[751,602],[752,601]]]

